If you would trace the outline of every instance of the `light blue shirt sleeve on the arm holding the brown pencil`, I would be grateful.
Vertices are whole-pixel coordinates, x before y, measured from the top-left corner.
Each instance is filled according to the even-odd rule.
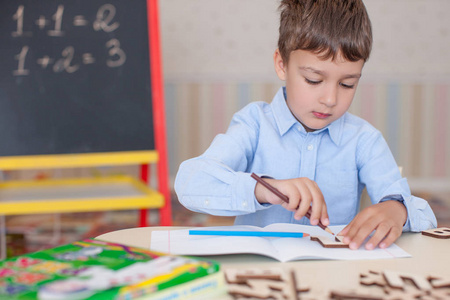
[[[257,123],[252,123],[249,109],[236,114],[227,132],[219,134],[203,155],[180,165],[175,191],[186,208],[237,216],[266,207],[256,200],[256,181],[248,173],[258,141]]]

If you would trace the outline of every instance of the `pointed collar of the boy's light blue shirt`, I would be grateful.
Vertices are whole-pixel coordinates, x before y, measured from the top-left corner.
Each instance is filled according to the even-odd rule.
[[[286,97],[286,88],[282,87],[278,90],[271,104],[274,112],[275,122],[277,123],[280,135],[284,135],[295,124],[299,124],[302,130],[304,130],[304,132],[306,133],[306,130],[304,129],[303,125],[300,122],[298,122],[297,119],[294,117],[294,115],[291,113],[289,107],[287,106],[285,97]],[[314,131],[313,134],[319,134],[322,131],[328,131],[331,140],[336,145],[339,145],[342,136],[342,130],[345,123],[346,114],[344,114],[342,117],[340,117],[333,123],[329,124],[327,127]]]

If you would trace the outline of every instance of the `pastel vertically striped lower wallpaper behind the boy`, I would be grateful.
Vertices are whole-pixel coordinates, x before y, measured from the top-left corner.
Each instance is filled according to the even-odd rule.
[[[198,156],[251,101],[271,101],[281,82],[168,82],[169,167]],[[450,178],[448,83],[361,82],[350,112],[378,128],[406,177]]]

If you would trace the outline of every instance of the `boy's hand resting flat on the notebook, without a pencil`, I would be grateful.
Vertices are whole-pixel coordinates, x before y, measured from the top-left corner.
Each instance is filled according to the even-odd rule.
[[[354,250],[375,230],[365,248],[372,250],[379,245],[384,249],[402,234],[407,216],[406,207],[399,201],[377,203],[363,209],[338,235],[343,235],[344,243]]]

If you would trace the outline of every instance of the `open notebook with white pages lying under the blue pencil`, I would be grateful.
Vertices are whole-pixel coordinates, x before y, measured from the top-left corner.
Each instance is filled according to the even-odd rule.
[[[338,233],[344,226],[329,226],[329,228],[333,232]],[[271,224],[264,228],[256,226],[217,226],[202,227],[201,229],[304,232],[311,236],[333,238],[333,235],[318,226],[287,223]],[[151,250],[170,254],[199,256],[259,254],[282,262],[301,259],[358,260],[411,256],[395,244],[386,249],[365,250],[364,246],[361,246],[358,250],[350,250],[348,248],[324,248],[318,242],[312,241],[310,237],[196,236],[189,235],[188,229],[153,231]]]

